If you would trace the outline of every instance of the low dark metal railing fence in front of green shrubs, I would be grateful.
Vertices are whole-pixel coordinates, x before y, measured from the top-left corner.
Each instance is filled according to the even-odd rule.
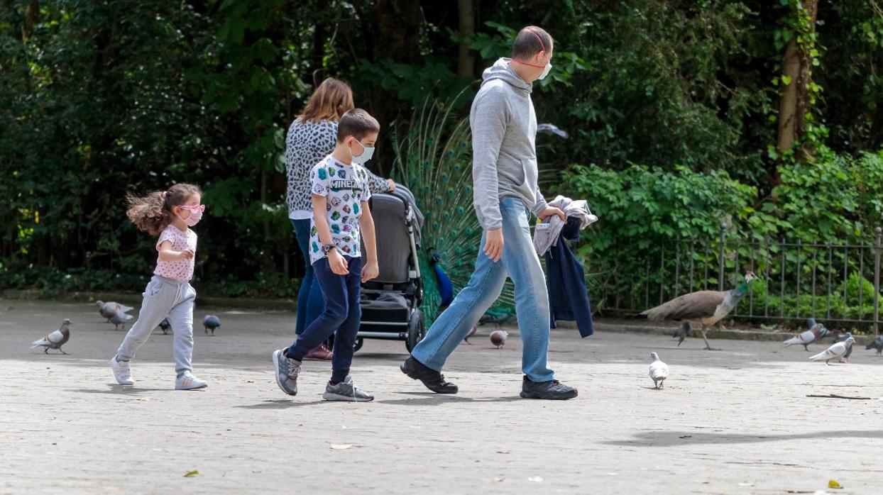
[[[618,264],[594,285],[604,307],[641,311],[695,290],[732,289],[751,271],[760,280],[734,317],[761,323],[813,317],[879,334],[883,230],[874,232],[867,244],[805,244],[744,241],[721,225],[716,239],[650,246],[624,261],[615,256]]]

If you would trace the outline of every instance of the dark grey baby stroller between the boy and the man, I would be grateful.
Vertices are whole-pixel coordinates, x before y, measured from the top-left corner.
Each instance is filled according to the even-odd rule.
[[[408,352],[426,335],[423,281],[417,258],[423,214],[408,188],[371,196],[379,274],[362,284],[362,323],[355,349],[365,339],[404,341]],[[362,252],[365,252],[363,247]]]

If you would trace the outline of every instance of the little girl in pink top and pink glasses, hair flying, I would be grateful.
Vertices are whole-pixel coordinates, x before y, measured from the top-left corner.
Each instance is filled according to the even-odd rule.
[[[129,362],[135,352],[163,319],[169,319],[175,340],[177,390],[203,388],[208,384],[193,376],[193,300],[196,291],[190,285],[196,255],[196,233],[190,229],[199,223],[206,207],[200,205],[202,191],[192,184],[175,184],[168,191],[155,191],[143,198],[129,195],[129,220],[156,241],[154,276],[144,290],[138,321],[125,334],[117,355],[110,359],[110,369],[120,385],[134,385]]]

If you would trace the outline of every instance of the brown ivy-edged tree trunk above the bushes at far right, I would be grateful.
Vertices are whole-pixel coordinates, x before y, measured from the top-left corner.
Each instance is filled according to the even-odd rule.
[[[818,5],[818,0],[804,0],[803,2],[804,11],[810,16],[813,31],[816,26]],[[795,35],[785,47],[785,56],[781,64],[782,86],[785,89],[782,91],[779,106],[777,148],[780,154],[791,150],[794,143],[803,137],[806,131],[806,112],[810,110],[807,86],[811,81],[811,64],[810,55],[800,49]],[[785,84],[785,80],[788,80],[789,84]],[[796,151],[803,152],[804,150]],[[778,174],[776,176],[778,178]]]

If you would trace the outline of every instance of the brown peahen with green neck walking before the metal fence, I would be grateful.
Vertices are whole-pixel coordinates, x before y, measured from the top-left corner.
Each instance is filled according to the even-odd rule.
[[[692,332],[692,326],[701,326],[702,340],[706,341],[707,350],[712,349],[708,344],[706,329],[721,321],[733,311],[743,296],[748,292],[751,281],[757,280],[752,272],[745,274],[745,281],[736,289],[730,290],[699,290],[683,296],[677,296],[666,304],[660,304],[638,315],[640,319],[650,321],[681,321],[683,322],[675,332],[675,337],[680,337],[677,345],[681,345],[683,339]]]

